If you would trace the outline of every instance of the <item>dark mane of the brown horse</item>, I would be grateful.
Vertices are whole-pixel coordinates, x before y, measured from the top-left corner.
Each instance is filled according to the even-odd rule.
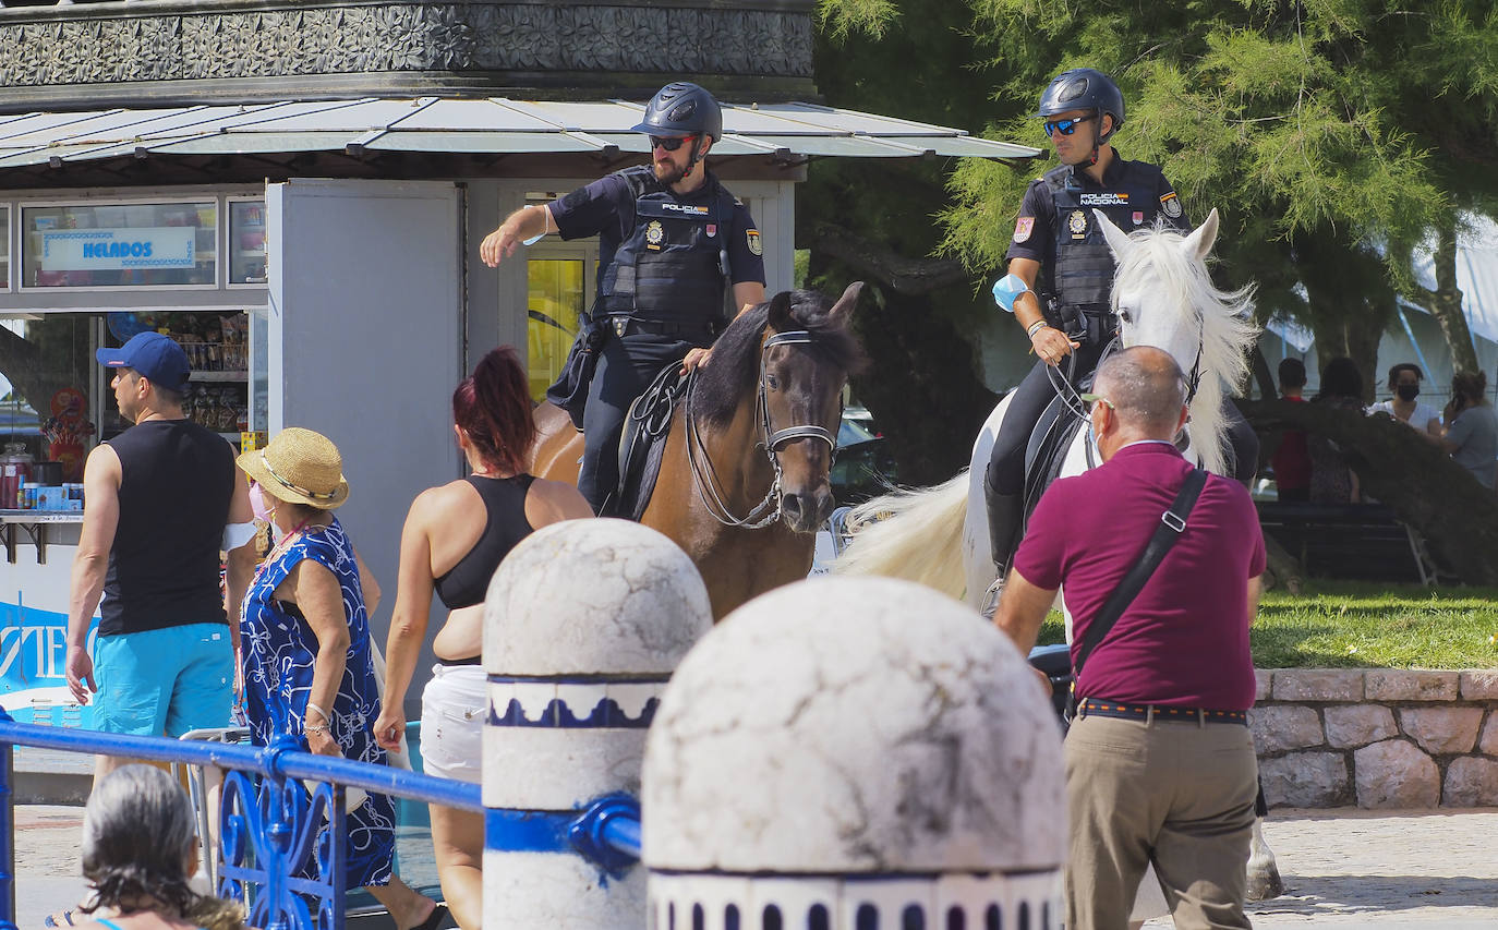
[[[846,328],[846,316],[834,317],[833,301],[816,291],[791,292],[791,325],[806,329],[815,340],[807,346],[825,362],[845,373],[864,365],[863,349]],[[770,301],[740,313],[713,343],[713,358],[697,370],[692,413],[716,427],[727,425],[745,397],[759,382],[759,346],[770,325]]]

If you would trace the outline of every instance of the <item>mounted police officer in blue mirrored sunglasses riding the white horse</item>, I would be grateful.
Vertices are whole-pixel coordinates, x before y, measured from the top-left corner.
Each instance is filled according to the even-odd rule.
[[[1007,253],[1010,273],[993,289],[1040,358],[1010,395],[984,482],[1001,580],[1023,524],[1031,433],[1056,397],[1052,379],[1067,377],[1076,386],[1091,376],[1116,329],[1109,303],[1113,253],[1092,211],[1101,210],[1125,232],[1156,219],[1191,229],[1159,168],[1129,162],[1110,144],[1124,124],[1124,94],[1112,78],[1091,67],[1062,72],[1041,94],[1037,115],[1046,121],[1061,165],[1025,192]],[[1236,410],[1231,413],[1239,466],[1252,478],[1257,442]],[[1243,433],[1251,448],[1243,448]]]

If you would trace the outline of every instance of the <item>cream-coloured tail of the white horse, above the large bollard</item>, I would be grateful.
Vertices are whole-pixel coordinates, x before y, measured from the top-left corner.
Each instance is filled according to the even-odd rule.
[[[839,575],[905,578],[962,599],[962,529],[968,472],[933,488],[894,491],[854,508],[852,544],[833,562]]]

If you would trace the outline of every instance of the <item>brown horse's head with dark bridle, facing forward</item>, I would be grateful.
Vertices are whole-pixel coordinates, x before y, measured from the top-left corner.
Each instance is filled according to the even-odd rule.
[[[768,304],[759,349],[764,445],[779,476],[780,520],[815,533],[833,512],[830,482],[842,389],[854,364],[848,322],[863,282],[830,309],[809,291],[780,292]]]

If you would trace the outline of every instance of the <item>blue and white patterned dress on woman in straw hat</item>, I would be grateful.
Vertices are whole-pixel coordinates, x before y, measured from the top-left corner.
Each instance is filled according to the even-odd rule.
[[[349,621],[349,654],[334,699],[331,735],[346,759],[385,762],[385,750],[374,743],[379,717],[379,690],[370,659],[370,627],[360,587],[354,545],[337,518],[327,527],[313,527],[294,539],[285,551],[268,560],[250,583],[240,617],[244,648],[244,702],[250,737],[258,746],[276,735],[295,737],[307,749],[303,717],[312,690],[318,636],[294,604],[273,598],[276,586],[303,559],[328,568],[343,589],[343,614]],[[386,885],[395,849],[395,806],[388,795],[372,794],[345,819],[349,830],[348,888]]]

